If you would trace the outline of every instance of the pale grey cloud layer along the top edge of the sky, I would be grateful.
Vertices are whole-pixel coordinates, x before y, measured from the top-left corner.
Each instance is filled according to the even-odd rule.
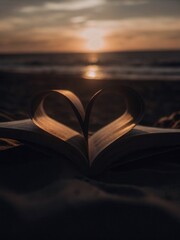
[[[0,0],[0,18],[63,13],[66,19],[122,19],[141,16],[179,16],[179,0]],[[48,14],[48,15],[46,15]],[[70,16],[71,15],[71,16]]]

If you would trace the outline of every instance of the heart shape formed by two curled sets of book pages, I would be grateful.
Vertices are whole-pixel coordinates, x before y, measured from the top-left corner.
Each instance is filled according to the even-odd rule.
[[[119,94],[123,97],[126,103],[124,113],[95,132],[91,137],[88,137],[92,108],[95,104],[96,98],[100,97],[101,92],[102,90],[96,92],[92,96],[86,109],[84,109],[80,99],[69,90],[51,90],[42,92],[32,101],[30,111],[31,119],[36,126],[50,135],[53,135],[64,142],[68,142],[78,149],[84,148],[82,151],[87,153],[85,155],[91,163],[107,146],[111,145],[117,139],[133,129],[142,118],[144,110],[144,104],[141,97],[134,90],[123,86],[119,90]],[[80,134],[47,114],[44,105],[45,99],[50,94],[59,94],[70,104],[83,134]]]

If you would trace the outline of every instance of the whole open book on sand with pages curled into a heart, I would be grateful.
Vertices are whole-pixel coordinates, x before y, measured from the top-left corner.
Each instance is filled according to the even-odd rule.
[[[90,136],[92,108],[101,93],[101,90],[96,92],[84,108],[80,99],[68,90],[42,92],[32,101],[29,119],[0,123],[0,137],[59,152],[82,170],[90,170],[94,174],[113,163],[124,164],[180,147],[180,130],[137,125],[142,118],[144,105],[141,97],[128,87],[119,90],[126,103],[123,114]],[[47,114],[45,99],[50,94],[58,94],[70,104],[81,132]]]

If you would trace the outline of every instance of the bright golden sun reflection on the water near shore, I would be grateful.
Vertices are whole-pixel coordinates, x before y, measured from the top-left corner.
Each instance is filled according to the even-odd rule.
[[[83,77],[85,79],[102,79],[103,78],[103,74],[100,71],[99,66],[97,65],[89,65],[85,68],[84,73],[83,73]]]

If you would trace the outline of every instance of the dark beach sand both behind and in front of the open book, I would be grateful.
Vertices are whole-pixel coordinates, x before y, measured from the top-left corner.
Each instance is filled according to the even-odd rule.
[[[86,102],[96,90],[118,89],[121,84],[144,99],[143,124],[152,126],[162,116],[180,110],[180,82],[94,81],[55,73],[1,72],[1,121],[28,117],[32,95],[42,90],[70,89]],[[108,102],[111,99],[102,104],[102,112]],[[100,119],[96,121],[99,124]],[[179,150],[150,156],[91,178],[69,159],[28,145],[1,151],[0,236],[29,240],[180,239],[179,157]]]

